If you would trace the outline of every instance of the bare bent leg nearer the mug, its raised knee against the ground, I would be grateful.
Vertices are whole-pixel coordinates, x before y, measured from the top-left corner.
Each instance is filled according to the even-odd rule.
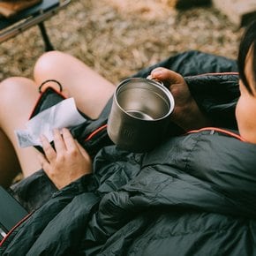
[[[86,64],[68,54],[51,51],[42,55],[34,67],[38,86],[56,79],[64,91],[74,97],[77,107],[88,117],[96,118],[114,93],[115,87]]]

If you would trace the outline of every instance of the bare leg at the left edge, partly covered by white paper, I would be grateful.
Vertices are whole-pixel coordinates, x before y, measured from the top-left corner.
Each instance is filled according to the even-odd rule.
[[[41,168],[36,149],[19,148],[14,133],[16,129],[25,128],[38,96],[37,88],[30,79],[11,78],[0,84],[0,184],[10,183],[20,168],[25,177]]]

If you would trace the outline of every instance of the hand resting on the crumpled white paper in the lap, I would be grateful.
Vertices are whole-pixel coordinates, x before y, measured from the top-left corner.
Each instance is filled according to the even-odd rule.
[[[63,129],[62,132],[61,135],[58,130],[53,131],[55,149],[41,135],[45,155],[38,154],[42,169],[58,189],[92,172],[92,162],[87,151],[72,138],[68,129]]]

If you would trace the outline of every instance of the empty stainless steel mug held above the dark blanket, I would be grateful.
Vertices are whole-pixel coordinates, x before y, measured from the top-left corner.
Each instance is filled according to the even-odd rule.
[[[174,109],[169,89],[153,79],[125,79],[116,88],[109,114],[109,138],[120,148],[147,152],[161,140]]]

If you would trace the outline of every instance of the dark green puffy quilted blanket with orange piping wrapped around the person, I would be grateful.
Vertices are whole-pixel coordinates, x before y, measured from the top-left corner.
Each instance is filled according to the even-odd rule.
[[[159,65],[183,73],[225,130],[177,129],[147,154],[102,147],[94,174],[49,194],[1,255],[256,255],[256,145],[236,132],[236,63],[192,51]]]

